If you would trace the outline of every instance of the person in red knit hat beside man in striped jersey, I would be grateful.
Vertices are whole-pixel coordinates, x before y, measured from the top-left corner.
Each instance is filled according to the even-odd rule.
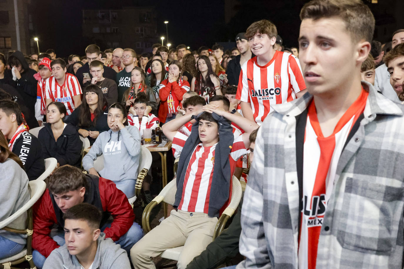
[[[45,106],[45,83],[47,79],[52,75],[52,68],[50,68],[50,59],[44,57],[38,66],[38,74],[40,78],[36,86],[36,102],[35,102],[35,118],[38,121],[39,126],[42,126],[44,115],[46,111]]]

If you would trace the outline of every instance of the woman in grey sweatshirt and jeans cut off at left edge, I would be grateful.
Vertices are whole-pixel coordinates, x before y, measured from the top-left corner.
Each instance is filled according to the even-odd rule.
[[[0,221],[4,221],[29,201],[28,177],[23,163],[8,148],[8,142],[0,131]],[[23,250],[23,235],[10,231],[0,234],[0,259],[9,258]]]

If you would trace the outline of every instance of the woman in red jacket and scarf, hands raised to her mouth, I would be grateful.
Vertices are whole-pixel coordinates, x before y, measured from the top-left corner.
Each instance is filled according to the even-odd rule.
[[[168,79],[162,81],[159,90],[160,109],[158,118],[166,123],[175,119],[182,96],[189,91],[189,83],[182,78],[182,66],[178,60],[171,61],[168,66]]]

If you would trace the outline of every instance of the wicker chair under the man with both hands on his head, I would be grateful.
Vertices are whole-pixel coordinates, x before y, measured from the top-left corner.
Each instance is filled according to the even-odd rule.
[[[232,177],[232,186],[233,187],[231,190],[230,204],[223,211],[222,215],[219,218],[219,221],[217,221],[215,232],[213,233],[213,239],[217,238],[223,232],[228,219],[234,214],[234,212],[238,207],[238,204],[240,203],[242,194],[241,185],[240,181],[235,176]],[[146,206],[142,215],[143,230],[145,231],[145,233],[148,233],[151,230],[149,222],[151,209],[153,209],[160,202],[166,202],[167,204],[171,205],[174,204],[176,191],[177,191],[177,179],[173,179],[167,184],[167,186],[163,188],[160,194],[158,194],[158,196],[156,196],[156,198],[154,198],[150,202],[150,204]],[[160,254],[160,256],[164,259],[178,261],[179,255],[181,254],[183,247],[184,246],[169,248],[167,250],[164,250],[162,254]]]

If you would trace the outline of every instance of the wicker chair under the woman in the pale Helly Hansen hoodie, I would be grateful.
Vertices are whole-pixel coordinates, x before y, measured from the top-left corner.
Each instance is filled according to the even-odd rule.
[[[135,185],[135,196],[129,198],[129,203],[133,207],[133,203],[136,201],[137,197],[141,197],[141,190],[143,186],[143,179],[147,175],[147,172],[150,169],[152,162],[151,153],[145,146],[140,146],[140,156],[139,156],[139,167],[137,169],[137,179]],[[94,168],[97,172],[101,171],[104,168],[104,157],[101,154],[97,156],[94,160]]]

